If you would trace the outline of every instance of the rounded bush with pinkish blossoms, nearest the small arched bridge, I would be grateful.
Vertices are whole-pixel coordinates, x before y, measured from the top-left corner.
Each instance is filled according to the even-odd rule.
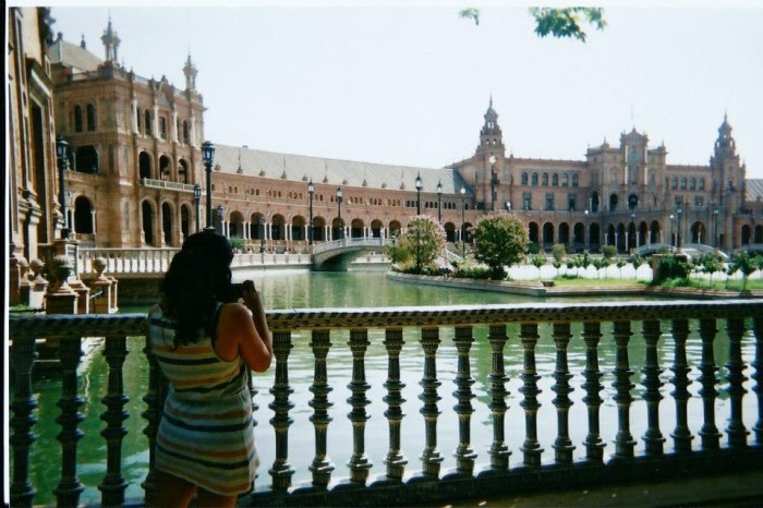
[[[401,262],[413,261],[415,273],[431,265],[445,249],[445,229],[436,220],[426,215],[413,218],[408,230],[400,234],[397,245],[387,252],[392,259]]]

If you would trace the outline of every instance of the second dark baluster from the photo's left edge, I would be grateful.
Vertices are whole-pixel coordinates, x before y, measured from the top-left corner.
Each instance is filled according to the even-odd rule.
[[[77,390],[76,368],[82,358],[82,339],[80,337],[62,338],[59,342],[61,362],[61,398],[56,403],[61,414],[56,423],[61,432],[56,436],[61,443],[61,481],[53,491],[58,506],[76,506],[84,489],[76,476],[76,445],[84,435],[77,425],[85,420],[78,411],[84,403]]]

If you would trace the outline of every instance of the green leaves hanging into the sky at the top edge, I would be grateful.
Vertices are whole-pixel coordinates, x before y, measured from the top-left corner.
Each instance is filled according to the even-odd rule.
[[[480,10],[467,8],[459,11],[464,19],[474,20],[480,25]],[[530,15],[535,19],[535,34],[538,37],[552,35],[556,38],[570,37],[585,43],[583,24],[593,25],[596,29],[604,29],[607,22],[604,20],[604,9],[594,7],[569,7],[562,9],[549,7],[530,8]]]

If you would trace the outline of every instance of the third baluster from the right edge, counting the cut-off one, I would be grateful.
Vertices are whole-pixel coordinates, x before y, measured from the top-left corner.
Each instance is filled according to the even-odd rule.
[[[717,379],[715,373],[715,353],[713,351],[713,340],[715,340],[715,319],[700,319],[700,337],[702,338],[702,361],[700,362],[700,396],[702,397],[703,424],[700,430],[702,438],[702,449],[717,450],[720,446],[720,433],[715,425],[715,399],[718,396],[715,385]]]

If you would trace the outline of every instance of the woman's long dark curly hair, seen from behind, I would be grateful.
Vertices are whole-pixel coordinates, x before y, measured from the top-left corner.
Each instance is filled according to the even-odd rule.
[[[213,335],[215,309],[230,291],[231,261],[228,239],[208,229],[185,239],[172,257],[159,290],[162,312],[175,323],[175,348],[196,342],[202,331]]]

